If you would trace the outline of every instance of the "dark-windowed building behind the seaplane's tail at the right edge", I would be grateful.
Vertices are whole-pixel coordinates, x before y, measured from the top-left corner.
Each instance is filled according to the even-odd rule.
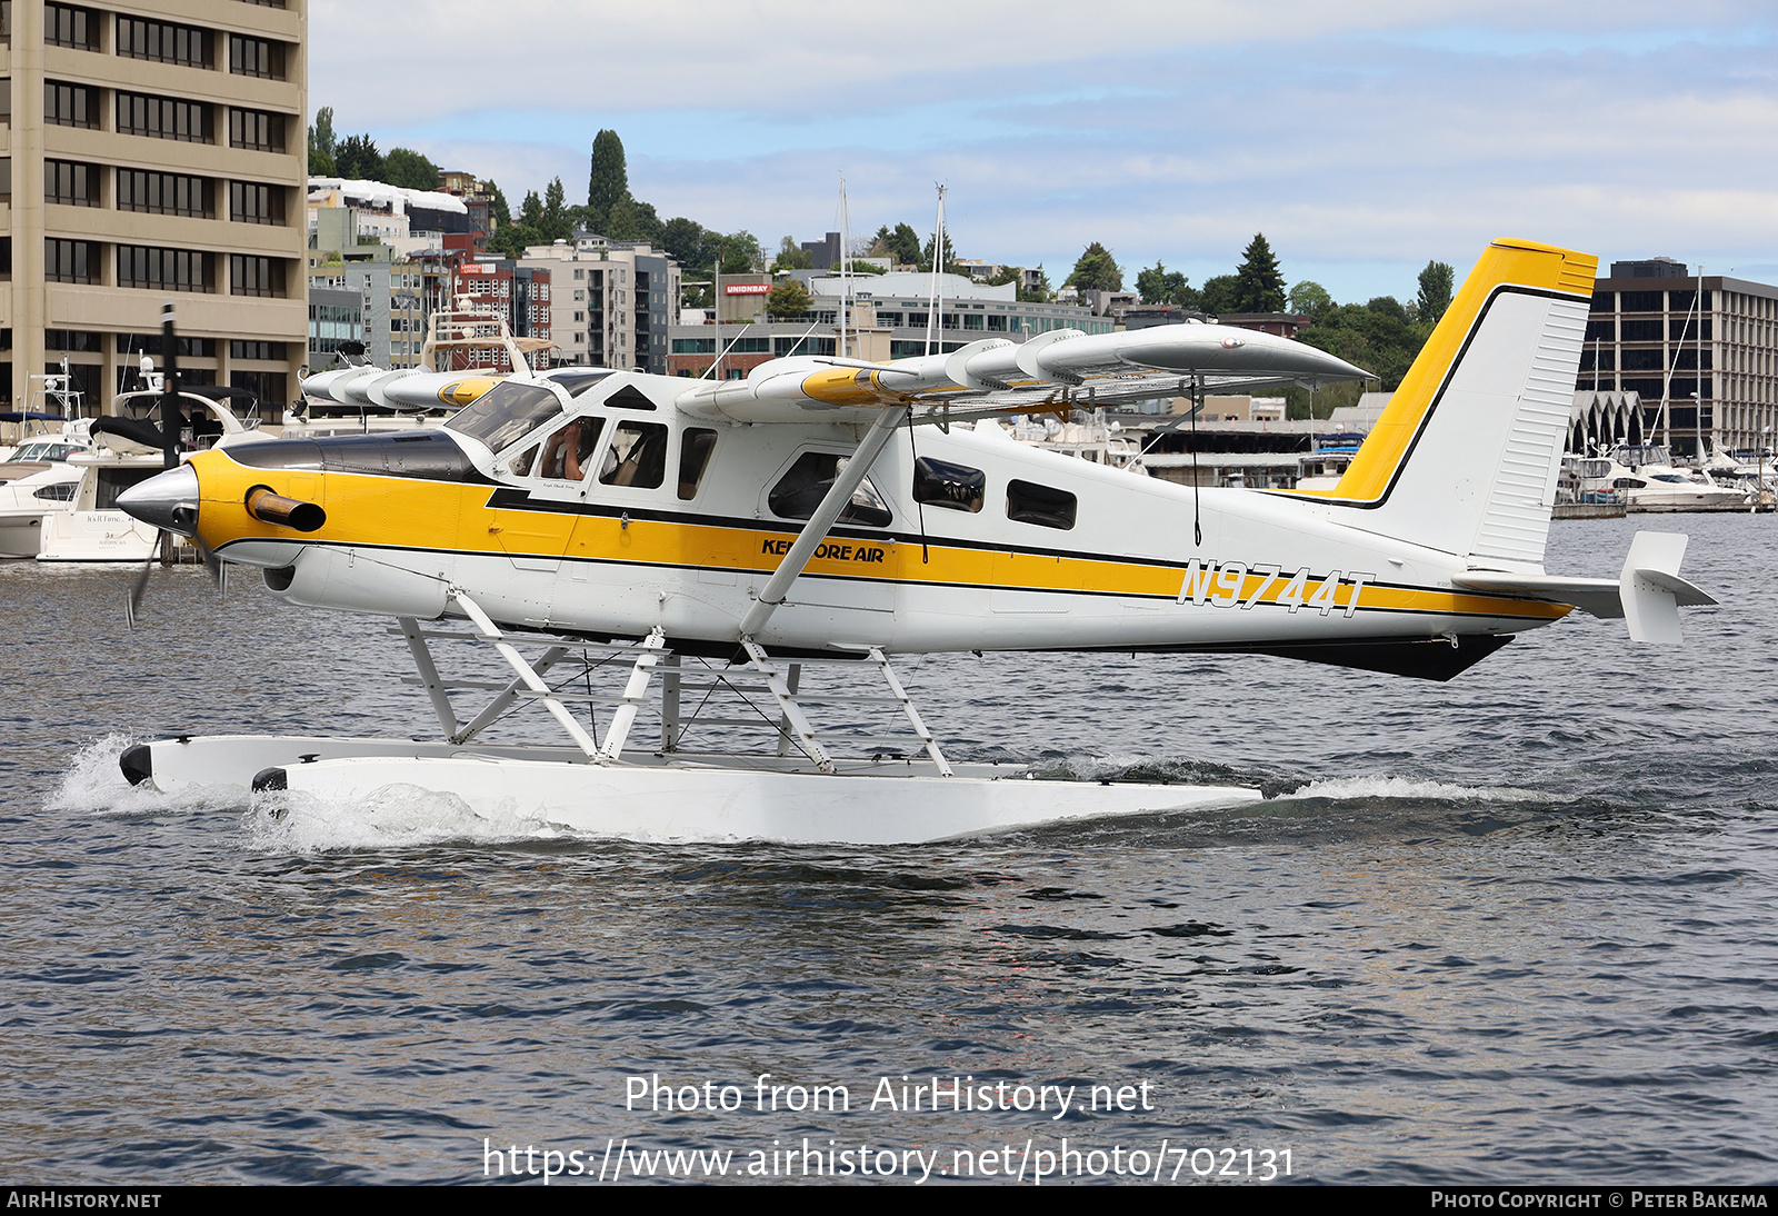
[[[1778,288],[1705,276],[1702,309],[1698,288],[1671,258],[1611,263],[1593,284],[1575,389],[1638,393],[1643,434],[1678,455],[1696,455],[1700,439],[1725,452],[1769,446],[1760,432],[1778,430]]]

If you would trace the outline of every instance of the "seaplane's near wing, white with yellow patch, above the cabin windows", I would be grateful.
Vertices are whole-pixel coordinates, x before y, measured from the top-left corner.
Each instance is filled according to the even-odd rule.
[[[987,338],[894,363],[772,359],[745,380],[699,382],[677,404],[695,418],[743,423],[868,421],[885,405],[974,418],[1358,379],[1369,373],[1305,343],[1186,324],[1092,336],[1058,329],[1026,343]]]

